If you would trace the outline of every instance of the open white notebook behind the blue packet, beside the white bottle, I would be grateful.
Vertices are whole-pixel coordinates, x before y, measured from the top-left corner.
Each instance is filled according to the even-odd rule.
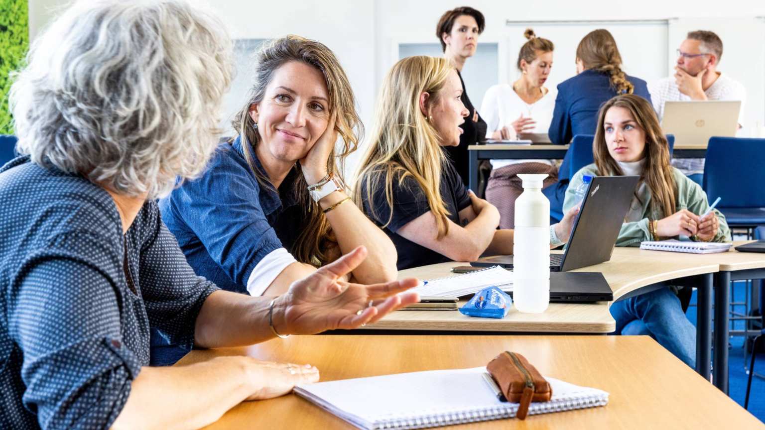
[[[513,272],[495,265],[487,269],[476,270],[463,275],[446,278],[425,279],[422,285],[412,288],[421,296],[430,297],[460,297],[480,292],[491,285],[507,291],[513,285]]]

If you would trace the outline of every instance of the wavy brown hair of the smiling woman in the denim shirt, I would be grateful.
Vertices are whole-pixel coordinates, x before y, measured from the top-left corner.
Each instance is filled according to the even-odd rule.
[[[363,135],[363,125],[356,113],[356,102],[353,96],[350,82],[346,77],[340,61],[337,60],[332,50],[317,41],[311,41],[304,37],[289,34],[263,45],[257,56],[258,65],[255,70],[255,83],[249,92],[249,99],[233,120],[233,128],[242,139],[242,148],[249,168],[262,187],[275,187],[269,181],[265,172],[257,168],[256,155],[252,148],[256,148],[261,141],[259,133],[253,129],[255,122],[249,116],[250,107],[262,102],[265,90],[271,82],[275,70],[290,61],[298,61],[315,67],[324,75],[329,93],[330,116],[337,112],[335,129],[342,138],[343,145],[337,153],[337,146],[327,158],[327,172],[334,175],[345,186],[343,170],[345,158],[351,152],[356,151],[359,140]],[[252,148],[251,146],[252,145]],[[339,161],[339,165],[336,163]],[[300,163],[295,163],[298,172],[301,171]],[[308,194],[308,184],[302,174],[298,174],[293,192],[297,196],[298,204],[303,209],[303,217],[308,220],[304,229],[295,239],[295,244],[290,250],[300,262],[311,265],[324,265],[329,262],[331,256],[328,252],[337,246],[334,236],[330,232],[330,223],[320,207],[316,207]]]

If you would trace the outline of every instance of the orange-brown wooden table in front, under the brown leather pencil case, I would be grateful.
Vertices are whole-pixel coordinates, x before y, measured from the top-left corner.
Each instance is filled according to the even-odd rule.
[[[763,424],[646,336],[293,336],[246,348],[194,350],[177,366],[221,355],[311,363],[321,380],[483,366],[503,350],[546,375],[604,389],[607,406],[452,428],[763,428]],[[502,425],[503,427],[500,427]],[[210,429],[353,428],[295,395],[243,402]]]

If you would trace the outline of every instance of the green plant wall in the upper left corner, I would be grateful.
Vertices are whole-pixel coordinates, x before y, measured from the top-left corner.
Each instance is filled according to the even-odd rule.
[[[29,47],[27,0],[0,0],[0,134],[13,134],[8,111],[9,73],[17,70]]]

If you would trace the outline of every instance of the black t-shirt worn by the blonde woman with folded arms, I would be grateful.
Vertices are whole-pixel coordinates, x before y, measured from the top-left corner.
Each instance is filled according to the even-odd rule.
[[[366,196],[363,198],[363,210],[366,216],[380,227],[388,222],[392,211],[390,223],[382,230],[390,237],[393,244],[396,245],[396,251],[399,252],[399,261],[396,263],[398,269],[450,261],[448,257],[397,234],[402,226],[430,210],[428,198],[425,197],[425,192],[415,181],[415,178],[409,176],[401,185],[399,185],[398,178],[393,179],[392,208],[389,207],[386,200],[384,185],[385,179],[381,178],[376,189],[373,190],[374,211],[369,210]],[[361,190],[366,188],[366,179],[362,181],[360,186],[362,187]],[[470,196],[467,194],[467,189],[462,184],[457,171],[449,162],[445,162],[441,168],[441,199],[444,200],[444,206],[449,212],[449,219],[459,225],[459,211],[470,206]]]

